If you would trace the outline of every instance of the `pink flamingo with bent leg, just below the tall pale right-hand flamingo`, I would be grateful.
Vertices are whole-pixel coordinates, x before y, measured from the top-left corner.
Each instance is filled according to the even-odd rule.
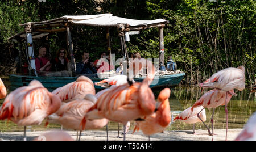
[[[227,94],[226,91],[218,90],[217,88],[210,90],[208,92],[205,92],[205,94],[201,96],[201,98],[197,100],[191,108],[192,111],[194,108],[199,106],[203,106],[201,111],[203,111],[204,108],[208,108],[208,109],[213,108],[212,118],[210,119],[212,123],[212,133],[210,132],[210,129],[208,128],[208,126],[204,123],[204,121],[199,116],[201,111],[197,113],[197,117],[199,117],[202,123],[207,127],[210,136],[213,136],[213,115],[214,115],[215,108],[229,103],[230,99],[232,98],[232,94],[234,94],[234,90],[230,90],[229,92],[230,94]]]

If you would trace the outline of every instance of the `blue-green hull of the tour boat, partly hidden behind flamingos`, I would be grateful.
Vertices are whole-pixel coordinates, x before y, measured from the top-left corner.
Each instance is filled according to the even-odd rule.
[[[185,73],[172,74],[172,75],[164,75],[159,76],[158,82],[152,83],[150,85],[151,88],[155,87],[171,87],[179,85],[181,79],[183,79]],[[11,82],[11,90],[15,90],[18,87],[27,86],[33,79],[40,81],[44,87],[48,88],[49,91],[53,91],[58,87],[63,87],[70,82],[76,81],[77,77],[34,77],[27,75],[9,75]],[[101,78],[90,78],[93,82],[100,82]],[[142,82],[143,78],[135,78],[135,81]],[[103,87],[94,86],[96,90],[102,90]]]

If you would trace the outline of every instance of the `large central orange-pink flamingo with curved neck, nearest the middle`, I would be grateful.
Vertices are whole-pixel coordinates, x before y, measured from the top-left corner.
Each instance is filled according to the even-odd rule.
[[[136,74],[139,69],[145,67],[144,64],[139,64],[139,60],[131,62],[131,68],[129,71],[134,71]],[[135,65],[139,65],[140,68],[134,69]],[[152,62],[148,61],[147,66],[154,67]],[[140,119],[146,115],[151,115],[155,110],[155,98],[149,84],[154,79],[155,69],[149,69],[147,77],[143,82],[135,82],[124,84],[114,87],[102,94],[98,98],[96,104],[89,109],[86,113],[84,120],[81,122],[83,127],[86,124],[86,120],[106,118],[110,121],[116,121],[124,125],[124,136],[126,124],[130,120]],[[131,80],[131,74],[129,74],[128,81]],[[131,81],[130,81],[131,82]]]

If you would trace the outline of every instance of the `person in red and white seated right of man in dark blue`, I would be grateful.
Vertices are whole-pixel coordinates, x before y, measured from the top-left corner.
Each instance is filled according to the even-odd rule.
[[[106,60],[108,60],[108,62],[105,62],[104,60],[100,60],[100,59],[97,59],[94,61],[94,65],[96,66],[96,70],[98,71],[98,73],[108,72],[108,71],[114,69],[114,66],[109,64],[110,56],[106,56],[106,53],[102,52],[101,58],[106,58]]]

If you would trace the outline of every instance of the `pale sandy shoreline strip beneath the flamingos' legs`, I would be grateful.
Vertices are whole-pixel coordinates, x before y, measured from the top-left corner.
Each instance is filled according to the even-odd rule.
[[[47,130],[47,131],[35,131],[26,132],[27,140],[34,140],[35,137],[42,135],[46,132],[59,131],[59,130]],[[76,140],[76,131],[63,130],[72,136]],[[212,131],[212,130],[211,130]],[[228,140],[234,140],[242,129],[228,129]],[[122,132],[122,131],[121,131]],[[192,134],[192,130],[171,130],[164,131],[164,133],[157,133],[150,136],[151,141],[211,141],[212,136],[209,136],[208,130],[195,130],[196,134]],[[117,137],[117,131],[109,131],[109,141],[122,141],[123,138]],[[143,135],[141,131],[131,134],[132,130],[126,135],[127,141],[148,141],[148,136]],[[226,129],[214,130],[213,140],[224,141],[226,136]],[[120,134],[121,137],[123,135]],[[22,141],[23,132],[0,132],[0,141]],[[106,132],[101,130],[88,130],[82,132],[81,141],[106,141]]]

